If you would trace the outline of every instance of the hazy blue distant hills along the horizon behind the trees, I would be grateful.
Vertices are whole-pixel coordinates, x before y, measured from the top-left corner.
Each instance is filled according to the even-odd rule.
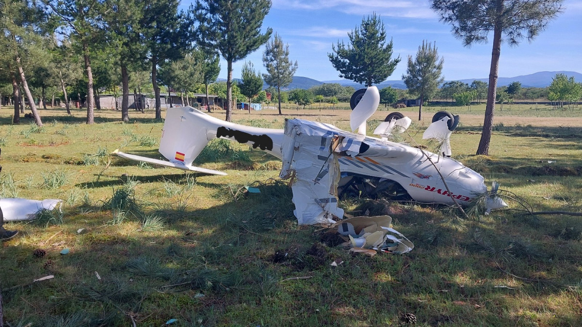
[[[556,76],[556,74],[558,74],[558,73],[566,74],[566,76],[568,76],[568,77],[574,76],[574,79],[576,79],[576,81],[582,81],[582,74],[577,73],[577,72],[565,72],[565,71],[537,72],[537,73],[533,73],[533,74],[529,74],[529,75],[521,75],[521,76],[515,76],[515,77],[499,77],[499,79],[497,79],[497,85],[498,86],[507,86],[514,81],[519,81],[519,82],[521,82],[521,87],[548,87],[549,84],[552,83],[552,77]],[[235,79],[235,80],[240,81],[239,79]],[[460,81],[462,81],[463,83],[471,84],[474,80],[480,80],[480,81],[485,81],[485,82],[489,81],[488,78],[463,79]],[[218,81],[225,81],[225,80],[218,79]],[[448,81],[450,81],[450,80],[445,80],[445,83]],[[309,77],[293,76],[292,83],[288,87],[282,88],[281,90],[288,91],[288,90],[293,90],[293,88],[303,88],[304,90],[307,90],[307,88],[318,86],[318,85],[321,85],[324,83],[338,83],[342,86],[351,86],[351,87],[355,88],[356,90],[358,90],[359,88],[365,87],[363,84],[357,84],[357,83],[354,83],[353,81],[350,81],[350,80],[318,81],[318,80],[310,79]],[[393,88],[406,89],[406,85],[404,85],[404,81],[402,81],[402,80],[383,81],[380,84],[376,84],[376,86],[380,89],[385,88],[385,87],[389,87],[389,86],[392,86]],[[263,83],[262,88],[265,89],[267,87],[268,87],[268,85]]]

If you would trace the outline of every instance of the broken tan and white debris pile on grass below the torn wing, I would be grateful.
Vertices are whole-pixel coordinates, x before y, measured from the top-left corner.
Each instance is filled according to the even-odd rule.
[[[333,224],[332,228],[338,228],[339,234],[349,237],[347,246],[353,252],[372,256],[370,251],[375,254],[375,250],[396,254],[411,251],[414,244],[391,228],[391,223],[390,216],[353,217]]]

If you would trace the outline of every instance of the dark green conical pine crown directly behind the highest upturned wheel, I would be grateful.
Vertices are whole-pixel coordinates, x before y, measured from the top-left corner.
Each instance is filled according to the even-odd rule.
[[[392,75],[400,56],[392,59],[392,40],[386,44],[386,30],[380,17],[374,13],[362,19],[361,25],[347,36],[349,45],[338,41],[337,45],[332,45],[335,54],[328,54],[339,77],[372,86]]]

